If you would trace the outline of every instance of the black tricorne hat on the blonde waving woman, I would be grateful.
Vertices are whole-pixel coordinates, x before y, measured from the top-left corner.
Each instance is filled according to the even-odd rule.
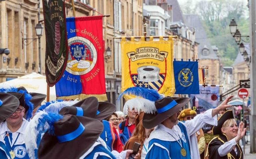
[[[219,135],[222,134],[221,128],[224,122],[228,119],[234,119],[233,111],[227,110],[225,113],[221,115],[221,117],[218,119],[218,125],[212,127],[212,134],[213,135]]]

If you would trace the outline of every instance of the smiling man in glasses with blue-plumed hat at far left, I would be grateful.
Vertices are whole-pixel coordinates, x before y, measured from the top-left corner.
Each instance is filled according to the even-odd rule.
[[[25,129],[29,122],[23,117],[26,114],[26,118],[30,120],[33,109],[41,104],[46,95],[34,93],[33,98],[24,87],[1,89],[1,91],[18,98],[20,104],[18,107],[10,106],[12,114],[6,118],[6,121],[1,122],[0,136],[4,139],[12,159],[29,159],[24,142]]]

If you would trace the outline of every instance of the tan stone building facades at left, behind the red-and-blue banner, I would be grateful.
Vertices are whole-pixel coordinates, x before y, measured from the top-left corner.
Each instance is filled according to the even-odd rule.
[[[113,36],[143,34],[142,0],[74,0],[76,17],[98,15],[96,10],[110,17],[103,18],[103,40],[105,43],[104,65],[108,101],[121,109],[122,101],[116,102],[121,90],[120,39]],[[40,2],[40,9],[38,4]],[[71,1],[66,3],[66,17],[73,17]],[[38,38],[35,26],[38,13],[43,19],[42,0],[0,1],[0,48],[8,48],[10,54],[0,55],[0,82],[14,79],[32,72],[39,72]],[[44,25],[44,23],[42,22]],[[23,38],[31,38],[23,40]],[[33,40],[34,38],[35,40]],[[23,43],[23,45],[22,45]],[[41,72],[45,74],[45,33],[41,37]],[[106,50],[111,56],[106,56]]]

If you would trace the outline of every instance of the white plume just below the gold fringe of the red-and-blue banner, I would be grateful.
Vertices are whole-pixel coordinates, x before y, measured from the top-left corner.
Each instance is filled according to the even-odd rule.
[[[62,101],[62,102],[52,103],[48,107],[45,108],[45,111],[59,113],[62,108],[72,106],[77,102],[78,102],[78,100],[75,99],[74,101],[70,100],[70,101]]]

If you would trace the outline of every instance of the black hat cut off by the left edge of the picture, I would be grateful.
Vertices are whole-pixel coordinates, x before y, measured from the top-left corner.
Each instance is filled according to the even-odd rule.
[[[20,105],[18,98],[11,94],[0,93],[0,123],[9,118]]]

